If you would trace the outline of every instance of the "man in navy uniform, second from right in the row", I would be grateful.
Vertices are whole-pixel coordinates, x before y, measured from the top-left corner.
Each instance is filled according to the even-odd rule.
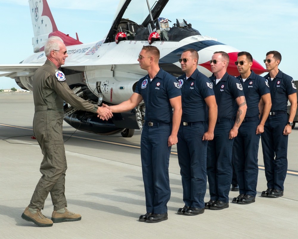
[[[233,159],[238,176],[239,196],[232,203],[249,204],[255,202],[258,179],[258,149],[261,133],[271,109],[269,85],[264,77],[251,71],[252,55],[242,51],[238,53],[237,65],[246,99],[247,111],[238,129],[233,145]],[[262,99],[262,119],[259,119],[259,102]]]

